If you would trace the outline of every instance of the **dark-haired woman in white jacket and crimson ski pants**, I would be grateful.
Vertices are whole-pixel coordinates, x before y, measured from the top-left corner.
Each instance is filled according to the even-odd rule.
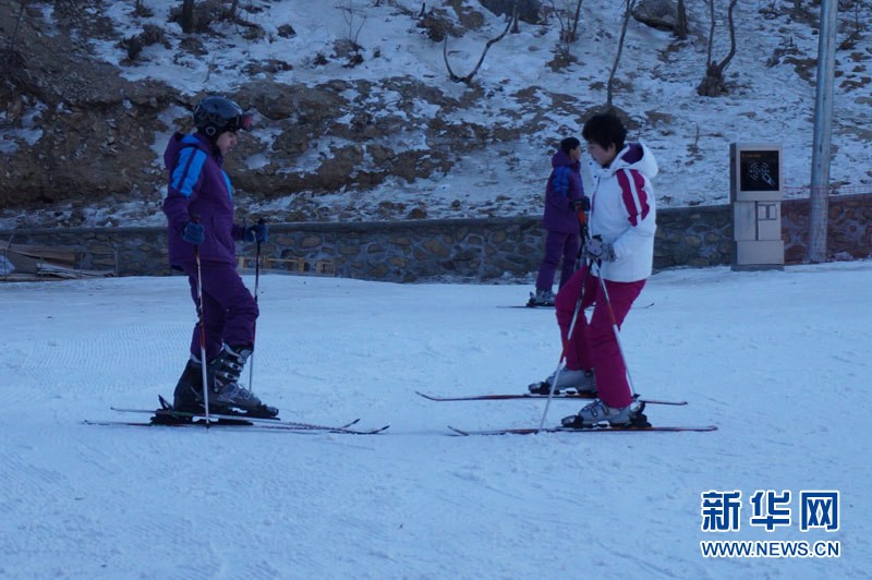
[[[592,158],[594,191],[589,220],[592,239],[583,250],[588,265],[560,289],[555,301],[566,357],[566,368],[561,372],[566,378],[559,379],[558,388],[595,390],[598,397],[578,415],[564,419],[565,425],[586,427],[604,421],[625,425],[637,418],[639,409],[597,277],[605,282],[615,322],[620,327],[652,271],[656,208],[650,179],[657,174],[657,162],[642,143],[625,143],[627,130],[613,114],[589,119],[582,136]],[[598,266],[592,266],[594,262]],[[569,337],[582,290],[579,318]],[[584,309],[591,304],[594,309],[589,322]]]

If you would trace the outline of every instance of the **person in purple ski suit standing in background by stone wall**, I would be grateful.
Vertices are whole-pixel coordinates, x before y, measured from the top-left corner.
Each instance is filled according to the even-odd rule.
[[[562,261],[560,286],[576,271],[576,259],[581,245],[579,212],[585,207],[584,188],[581,184],[581,142],[567,137],[560,142],[560,150],[552,157],[552,174],[545,188],[545,213],[542,226],[548,234],[545,239],[545,257],[536,277],[536,292],[530,293],[529,306],[553,306],[554,274]]]

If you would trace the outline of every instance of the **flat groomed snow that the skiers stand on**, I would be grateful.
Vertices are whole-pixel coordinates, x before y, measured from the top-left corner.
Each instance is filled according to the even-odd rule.
[[[867,578],[870,282],[869,261],[657,274],[622,335],[638,390],[690,401],[654,423],[719,431],[465,438],[446,425],[544,403],[413,391],[545,377],[554,314],[497,307],[525,287],[264,276],[255,391],[286,420],[391,425],[356,437],[83,425],[171,395],[185,280],[2,285],[0,578]],[[758,490],[791,492],[790,525],[751,524]],[[742,493],[739,530],[702,530],[710,491]],[[800,531],[803,491],[840,493],[837,531]],[[711,540],[840,557],[706,559]]]

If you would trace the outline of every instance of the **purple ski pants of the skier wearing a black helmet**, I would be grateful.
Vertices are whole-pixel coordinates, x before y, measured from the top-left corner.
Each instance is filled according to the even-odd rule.
[[[196,264],[182,265],[191,283],[191,298],[197,298]],[[245,288],[233,264],[203,262],[203,323],[206,329],[206,360],[211,361],[227,343],[232,347],[254,347],[254,322],[258,310],[254,297]],[[194,325],[191,353],[199,359],[199,322]]]

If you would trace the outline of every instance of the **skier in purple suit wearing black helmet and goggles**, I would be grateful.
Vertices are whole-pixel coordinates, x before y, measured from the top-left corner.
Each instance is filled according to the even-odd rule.
[[[170,265],[187,275],[191,297],[199,309],[197,249],[203,294],[190,360],[173,394],[177,410],[204,409],[202,365],[206,364],[210,411],[278,414],[277,409],[263,404],[239,385],[242,367],[254,350],[258,310],[237,271],[235,240],[266,242],[267,227],[262,222],[245,228],[233,221],[233,188],[221,166],[223,157],[237,146],[237,133],[250,130],[252,116],[243,113],[235,102],[206,97],[194,109],[196,132],[175,133],[164,153],[169,173],[164,213]],[[201,360],[201,324],[206,361]]]

